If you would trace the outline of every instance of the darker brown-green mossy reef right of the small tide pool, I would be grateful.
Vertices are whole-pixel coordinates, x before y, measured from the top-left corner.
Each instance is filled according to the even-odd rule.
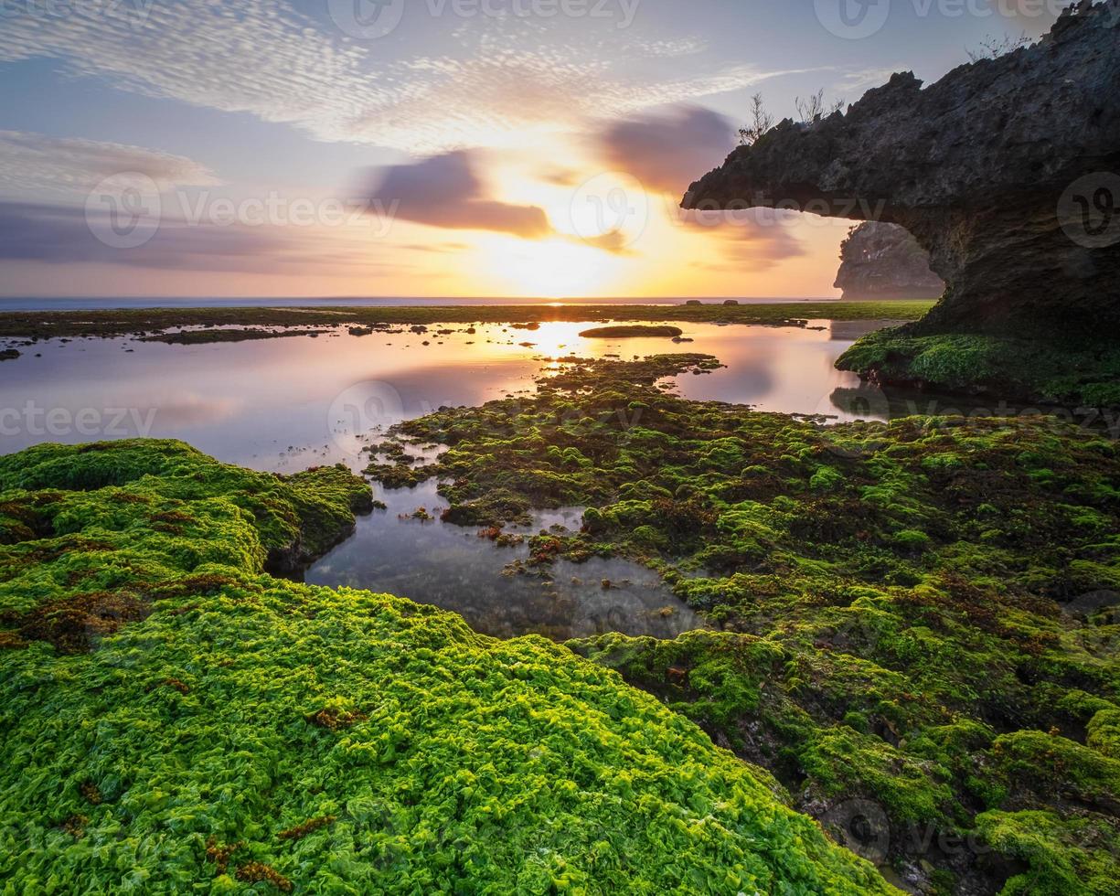
[[[715,366],[561,360],[532,399],[398,433],[447,446],[426,470],[452,521],[582,505],[542,562],[657,570],[715,631],[570,646],[899,886],[1113,893],[1117,444],[1047,417],[825,427],[666,388]]]

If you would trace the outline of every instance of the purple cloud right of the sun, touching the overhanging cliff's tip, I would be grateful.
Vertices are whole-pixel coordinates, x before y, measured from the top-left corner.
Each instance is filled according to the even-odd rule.
[[[707,171],[735,148],[730,119],[694,105],[637,115],[607,124],[598,134],[600,156],[614,170],[646,187],[683,195],[698,171]]]

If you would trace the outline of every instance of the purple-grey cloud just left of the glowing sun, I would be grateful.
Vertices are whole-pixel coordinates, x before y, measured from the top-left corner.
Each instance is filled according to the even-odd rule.
[[[363,193],[400,221],[446,230],[508,233],[523,240],[552,235],[544,209],[488,198],[475,167],[475,153],[447,152],[380,169],[380,184]]]

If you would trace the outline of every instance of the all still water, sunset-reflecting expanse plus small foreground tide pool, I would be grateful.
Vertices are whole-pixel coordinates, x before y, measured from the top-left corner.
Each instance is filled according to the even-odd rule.
[[[812,321],[810,328],[684,325],[690,343],[584,339],[588,323],[536,330],[430,326],[180,346],[124,339],[52,340],[0,364],[0,452],[43,441],[177,438],[233,464],[287,473],[318,464],[361,469],[370,432],[441,405],[480,404],[533,389],[543,358],[712,354],[727,364],[682,376],[681,394],[759,410],[886,419],[885,400],[833,368],[883,323]],[[440,332],[440,330],[450,330]],[[38,355],[38,356],[36,356]],[[855,396],[855,400],[853,400]],[[474,529],[446,525],[436,484],[375,486],[389,505],[307,572],[312,584],[398,594],[460,613],[477,631],[563,640],[599,632],[673,637],[702,623],[659,577],[622,560],[558,562],[517,571],[524,545],[500,548]],[[412,514],[424,507],[435,519]],[[525,530],[578,530],[581,511],[541,513]]]

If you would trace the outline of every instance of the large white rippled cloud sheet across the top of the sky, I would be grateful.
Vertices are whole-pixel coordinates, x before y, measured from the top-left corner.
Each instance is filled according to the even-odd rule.
[[[389,58],[399,44],[355,43],[280,0],[74,3],[53,17],[35,6],[4,16],[0,63],[57,59],[64,75],[122,91],[409,152],[515,141],[783,74],[712,64],[687,37],[643,43],[605,28],[567,44],[526,39],[532,26],[562,28],[543,20],[465,22],[454,56]],[[641,63],[659,56],[675,63],[651,75]]]

